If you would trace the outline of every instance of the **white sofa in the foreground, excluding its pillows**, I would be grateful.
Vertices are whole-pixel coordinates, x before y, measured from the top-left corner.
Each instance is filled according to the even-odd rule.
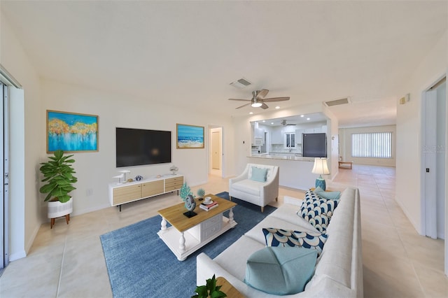
[[[214,274],[223,276],[246,297],[276,297],[244,283],[246,260],[265,248],[263,227],[316,231],[297,216],[301,200],[285,197],[285,204],[268,215],[253,229],[211,260],[205,253],[197,256],[197,284]],[[318,257],[314,276],[304,292],[284,297],[363,297],[360,200],[358,189],[347,188],[327,227],[328,239]],[[216,239],[219,241],[219,239]]]

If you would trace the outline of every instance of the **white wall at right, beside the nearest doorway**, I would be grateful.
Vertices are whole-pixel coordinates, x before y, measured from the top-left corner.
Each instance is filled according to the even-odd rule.
[[[406,104],[397,103],[396,201],[414,228],[421,226],[421,106],[422,92],[447,71],[447,31],[421,61],[402,94],[410,93]],[[446,215],[445,215],[446,216]]]

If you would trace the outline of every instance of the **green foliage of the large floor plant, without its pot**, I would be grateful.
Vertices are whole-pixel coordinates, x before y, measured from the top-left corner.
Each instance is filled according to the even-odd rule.
[[[78,178],[73,176],[76,173],[73,169],[73,162],[75,159],[70,159],[73,155],[64,156],[63,150],[56,150],[53,152],[54,156],[49,156],[48,162],[42,162],[40,171],[43,173],[42,182],[46,182],[39,192],[47,194],[44,201],[60,201],[66,203],[71,196],[69,192],[76,190],[73,183],[78,181]]]

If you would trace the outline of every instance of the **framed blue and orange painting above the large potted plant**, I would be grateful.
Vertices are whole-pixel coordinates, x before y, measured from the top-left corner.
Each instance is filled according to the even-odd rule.
[[[47,110],[47,153],[98,151],[98,116]]]

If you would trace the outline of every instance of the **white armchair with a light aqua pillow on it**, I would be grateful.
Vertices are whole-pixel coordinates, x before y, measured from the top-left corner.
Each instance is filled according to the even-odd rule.
[[[229,197],[264,207],[279,197],[279,167],[247,164],[241,175],[229,180]]]

